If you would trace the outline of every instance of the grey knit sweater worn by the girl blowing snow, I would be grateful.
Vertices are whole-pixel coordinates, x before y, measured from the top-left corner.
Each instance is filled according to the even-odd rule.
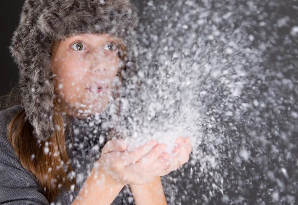
[[[21,110],[21,105],[10,107],[0,112],[0,205],[49,205],[42,195],[41,188],[34,176],[24,169],[7,139],[7,126],[12,117]],[[71,120],[74,125],[75,120]],[[75,127],[75,126],[72,126]],[[73,148],[68,147],[72,167],[76,171],[77,187],[80,189],[85,182],[92,163],[81,163],[84,159]],[[80,163],[75,163],[80,161]],[[161,177],[167,203],[174,204],[174,189],[166,177]],[[73,192],[62,190],[55,198],[56,205],[69,205],[77,196],[78,190]],[[111,205],[133,205],[132,195],[125,186]],[[52,203],[52,204],[54,204]],[[51,205],[52,205],[51,204]]]

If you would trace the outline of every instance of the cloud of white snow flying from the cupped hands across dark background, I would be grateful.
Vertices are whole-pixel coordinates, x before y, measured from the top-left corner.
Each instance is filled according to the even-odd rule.
[[[180,204],[297,203],[298,26],[268,11],[278,1],[263,3],[148,1],[138,27],[142,58],[121,90],[121,115],[112,101],[74,128],[77,168],[99,157],[109,128],[128,151],[156,140],[171,154],[189,136],[191,158],[170,174]],[[85,173],[75,173],[83,182]]]

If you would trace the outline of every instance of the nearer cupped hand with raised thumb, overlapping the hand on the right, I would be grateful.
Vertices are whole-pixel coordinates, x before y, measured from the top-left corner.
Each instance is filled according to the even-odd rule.
[[[165,170],[166,159],[160,157],[165,144],[152,140],[134,151],[126,150],[127,143],[113,139],[106,143],[98,160],[99,166],[121,184],[146,184]]]

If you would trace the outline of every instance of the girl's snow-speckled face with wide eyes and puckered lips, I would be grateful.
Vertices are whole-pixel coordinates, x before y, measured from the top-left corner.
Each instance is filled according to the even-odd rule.
[[[108,34],[74,35],[52,55],[55,92],[68,115],[85,118],[109,104],[120,68],[119,41]]]

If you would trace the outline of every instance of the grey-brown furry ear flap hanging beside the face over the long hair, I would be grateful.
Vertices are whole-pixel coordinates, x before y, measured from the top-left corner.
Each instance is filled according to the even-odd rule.
[[[34,128],[35,137],[46,140],[54,133],[52,117],[55,95],[51,57],[48,53],[51,43],[36,28],[30,30],[27,41],[17,41],[26,32],[22,29],[15,32],[10,50],[21,68],[19,84],[22,107]]]

